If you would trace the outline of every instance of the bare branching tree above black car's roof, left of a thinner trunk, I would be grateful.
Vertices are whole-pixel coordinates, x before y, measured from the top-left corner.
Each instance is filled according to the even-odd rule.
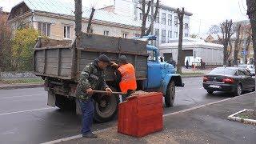
[[[226,22],[222,22],[220,27],[222,30],[222,36],[218,36],[218,38],[223,45],[223,66],[226,66],[227,60],[232,53],[232,45],[230,42],[230,38],[234,34],[232,19],[230,21],[226,20]],[[230,50],[228,50],[229,45]]]

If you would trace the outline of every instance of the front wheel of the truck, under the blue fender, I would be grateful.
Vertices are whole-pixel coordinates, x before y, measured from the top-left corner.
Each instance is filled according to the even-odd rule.
[[[174,81],[170,81],[165,95],[165,103],[166,107],[174,106],[174,98],[175,98],[175,83]]]

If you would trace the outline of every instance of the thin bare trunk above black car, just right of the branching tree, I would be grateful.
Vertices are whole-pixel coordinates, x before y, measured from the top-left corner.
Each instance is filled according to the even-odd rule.
[[[241,49],[241,23],[238,23],[235,27],[236,38],[234,41],[234,66],[238,66],[238,52]]]

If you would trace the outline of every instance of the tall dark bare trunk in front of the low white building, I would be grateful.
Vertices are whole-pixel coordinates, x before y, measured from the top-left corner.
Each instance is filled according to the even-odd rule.
[[[178,37],[178,65],[177,72],[178,74],[182,74],[182,40],[183,40],[183,18],[184,18],[184,7],[182,7],[182,11],[177,9],[178,21],[179,21],[179,37]]]

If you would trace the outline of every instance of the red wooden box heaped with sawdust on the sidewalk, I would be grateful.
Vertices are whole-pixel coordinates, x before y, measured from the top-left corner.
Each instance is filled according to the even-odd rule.
[[[141,138],[162,130],[162,93],[139,94],[118,106],[118,133]]]

